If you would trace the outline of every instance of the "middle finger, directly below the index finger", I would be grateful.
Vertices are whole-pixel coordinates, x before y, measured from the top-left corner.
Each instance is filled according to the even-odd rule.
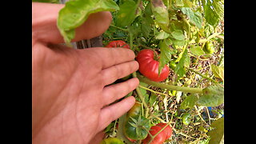
[[[124,78],[136,70],[138,70],[137,61],[125,62],[111,66],[110,68],[102,70],[103,84],[104,86],[109,85],[117,79]]]

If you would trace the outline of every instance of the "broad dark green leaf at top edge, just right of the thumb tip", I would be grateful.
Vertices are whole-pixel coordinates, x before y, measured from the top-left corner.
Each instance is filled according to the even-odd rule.
[[[140,14],[141,10],[133,0],[126,0],[117,14],[117,26],[130,26],[134,19]]]

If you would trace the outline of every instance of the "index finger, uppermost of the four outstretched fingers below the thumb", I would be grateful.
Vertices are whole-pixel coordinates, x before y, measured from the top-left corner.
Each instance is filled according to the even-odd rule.
[[[126,48],[93,47],[81,51],[85,54],[84,57],[90,57],[93,62],[98,62],[101,69],[130,62],[135,58],[134,51]]]

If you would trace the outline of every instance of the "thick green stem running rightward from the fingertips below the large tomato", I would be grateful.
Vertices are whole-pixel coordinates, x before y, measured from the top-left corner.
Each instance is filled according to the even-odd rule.
[[[137,74],[137,78],[141,82],[145,82],[146,84],[157,86],[162,89],[168,89],[168,90],[176,90],[176,91],[182,91],[184,93],[198,93],[202,94],[202,88],[190,88],[190,87],[184,87],[184,86],[173,86],[173,85],[167,85],[161,82],[154,82],[151,81],[148,78],[143,77],[141,74]]]

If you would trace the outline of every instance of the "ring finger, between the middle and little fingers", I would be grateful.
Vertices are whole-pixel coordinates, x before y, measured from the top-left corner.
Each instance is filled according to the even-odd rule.
[[[138,78],[131,78],[126,82],[106,86],[102,92],[102,98],[104,102],[103,106],[109,105],[110,103],[126,96],[130,93],[130,91],[134,90],[138,84]]]

